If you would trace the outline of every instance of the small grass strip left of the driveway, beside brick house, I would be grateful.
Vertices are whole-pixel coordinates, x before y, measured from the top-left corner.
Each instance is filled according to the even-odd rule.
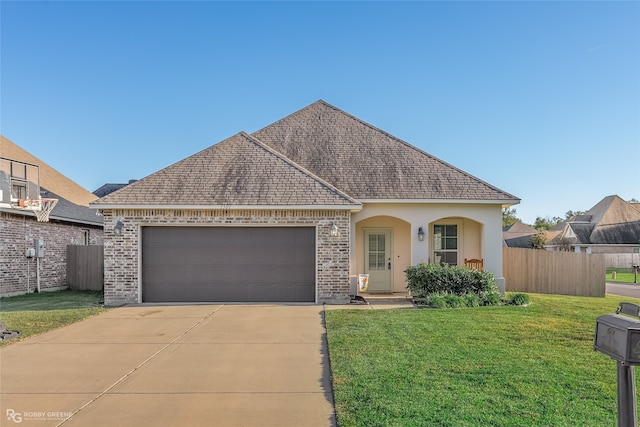
[[[102,292],[57,291],[0,298],[0,321],[20,338],[0,341],[0,346],[41,334],[105,311]]]

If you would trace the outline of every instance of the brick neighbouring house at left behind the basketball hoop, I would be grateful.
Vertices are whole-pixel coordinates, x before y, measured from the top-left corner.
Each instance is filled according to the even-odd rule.
[[[57,199],[46,222],[35,212],[43,198]],[[95,199],[0,136],[0,296],[67,287],[67,245],[102,244],[102,217],[88,207]]]

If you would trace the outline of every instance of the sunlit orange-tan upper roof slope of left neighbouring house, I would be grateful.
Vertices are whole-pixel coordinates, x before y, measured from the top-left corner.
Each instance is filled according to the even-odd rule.
[[[89,206],[97,197],[60,172],[0,135],[0,157],[31,163],[40,168],[40,187],[80,206]]]

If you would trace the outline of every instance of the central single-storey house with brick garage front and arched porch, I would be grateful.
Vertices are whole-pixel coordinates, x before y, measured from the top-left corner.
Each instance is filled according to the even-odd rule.
[[[480,258],[504,290],[502,208],[519,199],[317,101],[91,204],[105,303],[348,303],[404,269]]]

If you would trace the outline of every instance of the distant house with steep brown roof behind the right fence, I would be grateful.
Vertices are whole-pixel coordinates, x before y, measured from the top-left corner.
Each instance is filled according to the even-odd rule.
[[[607,196],[553,227],[547,238],[548,250],[630,254],[640,246],[640,210],[618,196]]]

